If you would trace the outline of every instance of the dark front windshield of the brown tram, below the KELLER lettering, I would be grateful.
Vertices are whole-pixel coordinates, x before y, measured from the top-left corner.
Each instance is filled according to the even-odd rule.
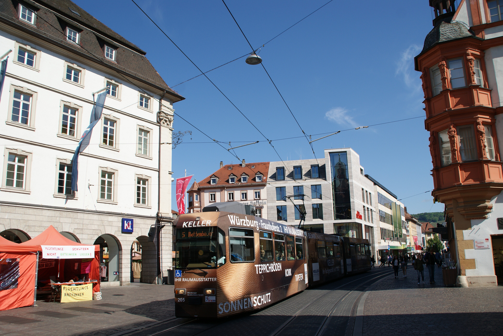
[[[176,267],[215,268],[217,264],[217,228],[177,229]]]

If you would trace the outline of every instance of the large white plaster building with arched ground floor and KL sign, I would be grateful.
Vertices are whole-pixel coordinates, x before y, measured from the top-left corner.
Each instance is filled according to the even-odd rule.
[[[173,103],[184,98],[145,52],[70,1],[1,0],[0,55],[10,49],[0,96],[0,234],[25,241],[52,225],[77,242],[100,244],[108,285],[129,284],[137,240],[142,281],[160,283],[172,267],[172,227],[154,242],[148,232],[173,219],[171,145],[159,143],[172,142]],[[71,192],[71,158],[93,92],[107,86]],[[132,233],[122,232],[123,218],[133,220]]]

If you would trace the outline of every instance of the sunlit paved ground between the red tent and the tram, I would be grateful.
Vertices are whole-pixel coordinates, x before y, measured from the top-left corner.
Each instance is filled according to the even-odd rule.
[[[103,299],[0,311],[0,335],[107,336],[174,318],[173,285],[102,288]]]

